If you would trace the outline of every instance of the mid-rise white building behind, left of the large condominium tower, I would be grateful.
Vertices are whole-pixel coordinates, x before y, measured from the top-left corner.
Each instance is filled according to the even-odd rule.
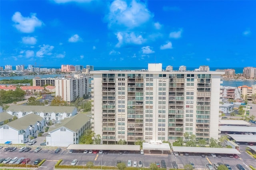
[[[71,102],[78,97],[88,95],[89,77],[83,74],[76,74],[74,77],[55,79],[56,96],[61,96],[64,101]]]

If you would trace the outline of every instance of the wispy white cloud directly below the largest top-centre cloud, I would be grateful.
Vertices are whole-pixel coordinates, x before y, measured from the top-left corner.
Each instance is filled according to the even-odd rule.
[[[118,39],[116,47],[120,47],[123,43],[142,44],[143,42],[145,42],[142,35],[136,36],[134,32],[118,32],[116,33],[116,38]]]

